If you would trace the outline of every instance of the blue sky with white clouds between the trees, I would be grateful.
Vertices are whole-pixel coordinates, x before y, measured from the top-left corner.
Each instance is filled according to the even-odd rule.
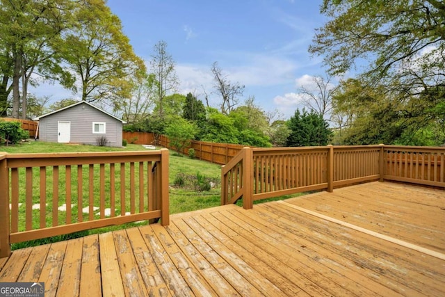
[[[154,45],[167,42],[181,83],[179,93],[203,99],[204,87],[210,94],[210,67],[218,61],[230,81],[245,85],[243,99],[254,96],[264,111],[277,109],[289,118],[301,108],[298,87],[324,75],[321,58],[307,51],[314,29],[325,20],[319,13],[321,2],[108,0],[108,6],[147,65]],[[51,101],[73,96],[60,88],[51,94]],[[216,96],[211,99],[216,107]]]

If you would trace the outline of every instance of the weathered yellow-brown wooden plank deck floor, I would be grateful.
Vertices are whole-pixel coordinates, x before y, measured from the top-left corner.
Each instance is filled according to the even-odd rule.
[[[445,191],[373,182],[215,207],[0,267],[0,282],[45,282],[45,296],[445,296]]]

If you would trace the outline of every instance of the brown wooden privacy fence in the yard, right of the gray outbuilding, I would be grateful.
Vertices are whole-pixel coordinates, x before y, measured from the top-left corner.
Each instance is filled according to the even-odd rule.
[[[123,132],[122,139],[127,140],[128,143],[135,143],[140,145],[154,145],[156,144],[154,134],[145,132]],[[161,136],[158,139],[157,145],[174,150],[170,145],[167,136]],[[245,145],[235,145],[230,143],[209,143],[205,141],[191,141],[191,145],[184,149],[184,154],[188,155],[189,150],[195,151],[195,158],[209,161],[216,164],[226,164],[238,152],[240,152]]]

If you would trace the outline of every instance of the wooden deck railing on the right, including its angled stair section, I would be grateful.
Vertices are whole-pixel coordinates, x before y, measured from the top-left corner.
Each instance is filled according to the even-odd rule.
[[[221,203],[313,190],[332,191],[372,180],[445,187],[445,147],[394,145],[250,148],[221,169]]]

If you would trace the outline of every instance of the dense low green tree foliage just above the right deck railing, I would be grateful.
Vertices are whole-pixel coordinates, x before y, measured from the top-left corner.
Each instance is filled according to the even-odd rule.
[[[445,113],[441,100],[430,97],[444,95],[440,89],[437,93],[430,89],[402,100],[404,94],[389,92],[386,86],[371,88],[357,79],[342,81],[332,97],[339,127],[335,143],[442,145]]]

